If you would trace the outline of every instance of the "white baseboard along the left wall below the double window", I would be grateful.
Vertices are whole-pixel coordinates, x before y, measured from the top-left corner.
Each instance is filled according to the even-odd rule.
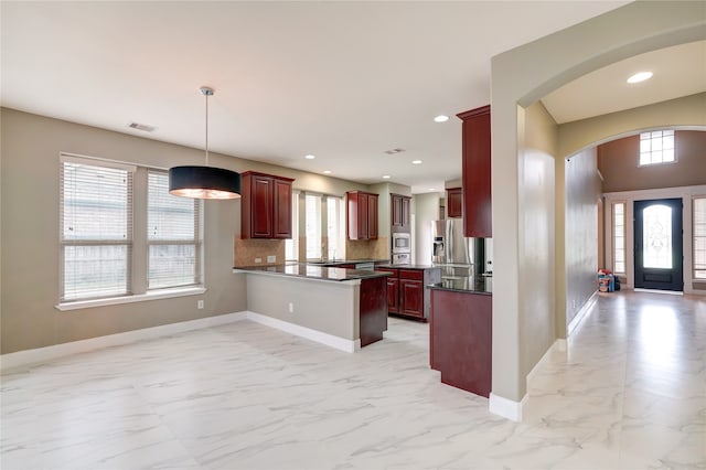
[[[137,341],[152,340],[160,337],[168,337],[170,334],[183,333],[185,331],[217,327],[221,324],[232,323],[234,321],[245,320],[246,318],[247,312],[226,313],[2,354],[0,356],[0,372],[53,361],[58,357],[95,351],[103,348],[119,346],[122,344],[135,343]]]

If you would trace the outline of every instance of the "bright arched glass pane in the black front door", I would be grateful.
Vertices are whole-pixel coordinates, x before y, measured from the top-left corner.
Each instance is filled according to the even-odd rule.
[[[672,207],[652,205],[642,215],[644,267],[672,269]]]

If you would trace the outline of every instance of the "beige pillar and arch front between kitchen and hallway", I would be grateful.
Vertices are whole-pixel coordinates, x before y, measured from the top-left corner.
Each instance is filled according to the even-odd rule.
[[[521,359],[523,338],[530,340],[527,332],[535,330],[521,313],[526,299],[520,287],[524,281],[521,266],[531,255],[522,249],[524,215],[520,212],[520,197],[525,193],[520,172],[525,151],[526,108],[559,86],[602,66],[706,39],[705,26],[706,10],[700,2],[633,2],[492,58],[493,276],[494,285],[502,286],[502,295],[493,296],[491,407],[495,397],[521,403],[526,395],[526,376],[536,364]],[[597,132],[585,138],[597,142],[613,135]],[[560,140],[567,141],[568,137]],[[584,147],[588,143],[561,146],[558,156]],[[552,301],[545,299],[547,305]]]

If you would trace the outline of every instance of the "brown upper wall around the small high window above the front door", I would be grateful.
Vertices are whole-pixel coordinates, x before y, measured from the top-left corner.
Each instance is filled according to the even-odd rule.
[[[706,104],[704,107],[706,114]],[[640,167],[640,136],[598,146],[598,168],[603,192],[691,186],[706,183],[706,131],[677,130],[676,161]]]

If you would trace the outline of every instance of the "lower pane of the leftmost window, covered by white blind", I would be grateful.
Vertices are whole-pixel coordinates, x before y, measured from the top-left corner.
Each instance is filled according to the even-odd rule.
[[[127,245],[64,246],[63,300],[129,293]]]

